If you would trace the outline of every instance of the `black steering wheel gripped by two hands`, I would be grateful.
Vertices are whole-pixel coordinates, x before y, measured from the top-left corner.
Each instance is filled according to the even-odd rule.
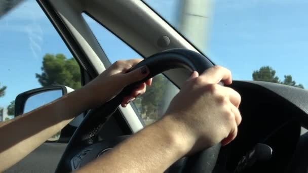
[[[203,55],[186,49],[170,49],[152,55],[138,63],[131,70],[144,65],[149,68],[149,74],[146,78],[126,86],[112,100],[95,110],[89,111],[71,137],[58,163],[56,172],[70,172],[78,169],[128,138],[128,136],[122,136],[111,140],[98,141],[97,137],[101,127],[115,110],[117,110],[123,98],[128,96],[139,84],[170,69],[185,68],[191,72],[198,71],[201,74],[204,70],[213,66]],[[176,166],[178,167],[176,172],[212,172],[219,150],[220,144],[217,144],[193,156],[180,159],[176,162]]]

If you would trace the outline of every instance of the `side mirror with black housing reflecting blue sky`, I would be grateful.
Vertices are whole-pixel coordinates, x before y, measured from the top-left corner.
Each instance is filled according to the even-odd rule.
[[[29,90],[19,94],[15,99],[15,117],[46,105],[73,91],[67,86],[48,86]]]

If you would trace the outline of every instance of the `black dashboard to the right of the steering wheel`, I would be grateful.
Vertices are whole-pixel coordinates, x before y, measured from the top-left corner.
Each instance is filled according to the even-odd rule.
[[[274,86],[273,86],[274,85]],[[235,81],[229,87],[242,97],[242,123],[237,138],[221,147],[213,172],[306,172],[308,93],[305,90],[267,82]],[[129,136],[103,139],[89,145],[70,160],[71,169],[84,166],[108,152]],[[257,147],[258,146],[258,147]],[[259,150],[260,146],[266,150]],[[270,152],[264,152],[270,151]],[[266,159],[259,159],[260,154]],[[270,153],[270,154],[268,154]],[[120,157],[120,156],[119,156]],[[265,156],[264,156],[265,158]],[[166,172],[183,172],[186,158]]]

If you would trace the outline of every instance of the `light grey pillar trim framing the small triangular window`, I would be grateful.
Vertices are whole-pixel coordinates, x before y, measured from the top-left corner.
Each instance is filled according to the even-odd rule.
[[[76,41],[76,44],[79,46],[78,48],[81,49],[79,51],[84,53],[85,59],[92,65],[96,74],[105,70],[102,62],[107,60],[104,58],[105,55],[103,55],[102,49],[95,40],[85,20],[82,19],[81,13],[85,11],[95,18],[98,17],[98,21],[108,26],[106,28],[114,31],[115,35],[123,38],[127,45],[131,45],[131,47],[139,50],[140,54],[145,57],[172,48],[183,48],[199,52],[142,1],[114,1],[112,4],[108,4],[105,1],[88,2],[82,0],[37,1],[43,4],[48,2],[53,7],[60,22],[63,23],[64,29],[69,31],[73,41]],[[109,13],[110,11],[119,10],[122,10],[125,15]],[[125,22],[125,24],[120,22],[130,21],[131,19],[133,19],[132,22]],[[144,30],[138,27],[139,22],[134,21],[145,21],[148,29]],[[127,28],[130,28],[132,33],[128,32]],[[152,34],[146,34],[148,32]],[[157,43],[156,38],[161,36],[161,34],[167,34],[172,40],[172,44],[165,49],[155,46]],[[185,82],[186,77],[188,78],[190,75],[189,72],[181,69],[172,72],[167,71],[165,74],[169,80],[179,87]],[[138,116],[130,105],[125,109],[122,107],[119,107],[119,109],[134,133],[143,128]]]

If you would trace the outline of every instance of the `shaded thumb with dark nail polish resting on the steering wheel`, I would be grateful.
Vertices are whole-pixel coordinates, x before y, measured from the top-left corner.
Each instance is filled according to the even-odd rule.
[[[147,66],[139,67],[131,72],[124,74],[126,84],[131,84],[133,82],[142,80],[149,74],[149,69]]]

